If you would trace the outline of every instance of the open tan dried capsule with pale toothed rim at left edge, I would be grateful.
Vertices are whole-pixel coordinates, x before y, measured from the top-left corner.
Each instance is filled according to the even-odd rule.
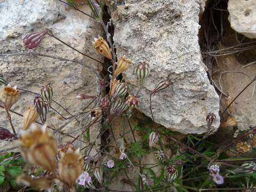
[[[12,87],[8,84],[7,86],[2,87],[0,90],[0,102],[4,103],[6,111],[9,111],[14,103],[18,101],[19,94],[17,86]]]

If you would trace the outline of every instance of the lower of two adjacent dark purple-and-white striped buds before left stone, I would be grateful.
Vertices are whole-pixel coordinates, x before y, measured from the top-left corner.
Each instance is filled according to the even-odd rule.
[[[44,102],[42,97],[36,96],[34,99],[34,105],[42,123],[46,122],[46,115],[49,111],[49,106]]]

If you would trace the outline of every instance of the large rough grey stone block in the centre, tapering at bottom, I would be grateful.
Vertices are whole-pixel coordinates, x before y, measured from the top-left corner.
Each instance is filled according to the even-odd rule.
[[[173,86],[153,96],[156,123],[182,133],[204,133],[206,115],[214,113],[219,126],[219,97],[202,67],[198,45],[198,14],[204,1],[123,1],[112,4],[114,42],[118,58],[126,55],[132,67],[124,74],[132,92],[138,91],[135,65],[151,68],[140,91],[140,110],[150,116],[149,90],[168,77]]]

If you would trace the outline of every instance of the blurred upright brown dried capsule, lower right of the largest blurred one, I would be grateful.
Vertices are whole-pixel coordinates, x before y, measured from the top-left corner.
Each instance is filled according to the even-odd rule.
[[[60,180],[73,187],[79,175],[83,172],[84,158],[79,149],[73,150],[68,148],[66,153],[61,153],[59,163]]]

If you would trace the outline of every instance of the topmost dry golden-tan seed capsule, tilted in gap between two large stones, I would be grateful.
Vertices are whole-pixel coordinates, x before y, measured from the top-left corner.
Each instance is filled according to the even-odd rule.
[[[101,36],[97,38],[94,38],[94,42],[92,42],[94,45],[94,49],[98,51],[100,54],[102,54],[104,57],[112,60],[112,54],[111,49],[108,46],[107,41],[103,39]]]

